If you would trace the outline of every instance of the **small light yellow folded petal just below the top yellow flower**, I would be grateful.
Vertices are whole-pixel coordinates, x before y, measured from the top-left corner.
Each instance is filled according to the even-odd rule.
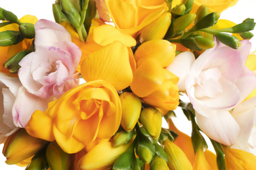
[[[137,43],[131,35],[121,33],[112,25],[100,25],[99,27],[95,27],[93,29],[93,40],[102,46],[106,46],[114,41],[120,41],[125,44],[125,46],[135,46]]]

